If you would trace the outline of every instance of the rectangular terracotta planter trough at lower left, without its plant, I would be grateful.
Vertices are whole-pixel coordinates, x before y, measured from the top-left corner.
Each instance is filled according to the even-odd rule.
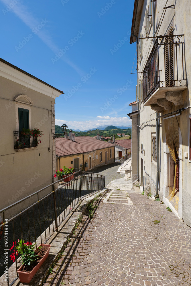
[[[34,275],[37,273],[39,268],[41,267],[42,263],[46,260],[48,257],[49,251],[50,251],[50,244],[40,244],[39,246],[48,246],[48,250],[46,251],[45,255],[42,257],[42,259],[39,261],[39,263],[30,271],[30,272],[23,272],[21,269],[23,268],[23,265],[18,269],[18,275],[19,280],[21,283],[29,283],[31,279],[34,277]]]

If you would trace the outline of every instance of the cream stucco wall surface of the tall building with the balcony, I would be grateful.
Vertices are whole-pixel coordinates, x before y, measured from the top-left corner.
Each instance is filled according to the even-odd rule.
[[[142,9],[142,16],[141,22],[139,27],[139,34],[142,34],[142,37],[152,37],[153,36],[153,27],[151,27],[150,33],[146,35],[145,32],[145,10],[150,3],[149,0],[144,1],[143,9]],[[187,90],[183,92],[183,99],[184,105],[183,106],[175,106],[172,104],[171,110],[164,110],[160,115],[172,112],[174,110],[178,110],[179,108],[186,107],[190,105],[190,95],[189,89],[191,84],[191,55],[190,55],[190,38],[191,38],[191,31],[188,25],[190,21],[190,1],[176,1],[175,3],[167,3],[166,0],[163,1],[156,1],[156,28],[157,35],[166,35],[170,25],[173,23],[174,26],[174,35],[184,34],[185,46],[185,62],[184,62],[184,69],[186,71],[186,78],[187,78]],[[163,9],[166,5],[175,4],[175,9]],[[138,43],[139,44],[139,43]],[[144,39],[143,40],[143,57],[140,61],[139,59],[139,71],[142,72],[145,64],[147,62],[148,56],[151,52],[153,47],[153,40]],[[178,47],[179,48],[179,47]],[[164,79],[164,52],[163,49],[159,49],[159,64],[160,64],[160,80]],[[161,68],[162,67],[162,68]],[[179,67],[178,67],[179,68]],[[182,68],[182,66],[180,67]],[[181,73],[179,68],[179,72]],[[142,74],[139,74],[139,78],[142,79]],[[152,135],[156,134],[156,120],[155,118],[155,111],[151,110],[150,106],[144,106],[143,102],[140,103],[140,148],[139,148],[139,178],[141,180],[141,159],[143,160],[143,176],[147,176],[147,183],[149,182],[151,185],[151,192],[155,192],[155,184],[156,183],[156,162],[152,160]],[[180,149],[184,152],[189,154],[189,116],[191,115],[190,109],[185,110],[180,115],[180,122],[179,122],[179,139],[180,139]],[[152,120],[154,119],[154,120]],[[150,122],[144,123],[148,120],[152,120]],[[133,127],[133,122],[132,122]],[[133,142],[133,128],[132,128],[132,142]],[[145,151],[143,154],[141,153],[141,143],[143,144],[143,149]],[[189,156],[189,155],[188,155]],[[180,192],[179,192],[179,209],[178,214],[179,217],[182,218],[188,225],[191,226],[191,190],[190,190],[190,183],[191,183],[191,162],[188,160],[189,157],[183,156],[180,158]],[[133,169],[136,166],[136,160],[133,160],[133,148],[132,148],[132,162],[133,162]],[[160,118],[160,198],[162,196],[167,197],[167,194],[171,191],[170,186],[172,185],[172,178],[174,174],[172,174],[172,160],[170,161],[170,153],[168,147],[166,147],[166,140],[164,134],[164,122],[163,118]],[[149,174],[146,175],[145,171]]]

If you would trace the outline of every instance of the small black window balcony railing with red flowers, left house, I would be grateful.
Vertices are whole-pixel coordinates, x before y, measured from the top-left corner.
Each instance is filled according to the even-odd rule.
[[[14,148],[24,149],[38,146],[38,138],[29,134],[23,134],[23,131],[14,131]]]

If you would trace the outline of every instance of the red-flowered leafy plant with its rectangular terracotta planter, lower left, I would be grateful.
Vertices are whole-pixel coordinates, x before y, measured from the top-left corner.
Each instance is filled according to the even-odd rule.
[[[13,246],[11,247],[17,249],[16,255],[21,254],[22,265],[18,269],[19,280],[21,283],[29,283],[34,275],[37,273],[38,269],[41,267],[42,263],[48,257],[50,251],[50,244],[40,244],[39,247],[34,250],[35,244],[24,243],[22,240],[18,240],[18,246],[16,242],[13,241]],[[10,250],[11,250],[10,249]],[[15,261],[15,251],[10,255],[11,260]]]

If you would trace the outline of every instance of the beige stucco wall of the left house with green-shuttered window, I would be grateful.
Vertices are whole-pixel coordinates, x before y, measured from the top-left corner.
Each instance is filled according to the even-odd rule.
[[[53,170],[56,167],[53,166],[52,160],[55,140],[52,141],[51,129],[54,126],[52,126],[51,110],[54,108],[55,100],[4,77],[0,78],[0,90],[1,98],[4,98],[0,99],[0,209],[2,209],[52,183]],[[27,95],[34,105],[13,101],[15,96],[21,94]],[[39,128],[43,131],[44,135],[40,138],[42,143],[37,147],[14,150],[13,131],[18,130],[18,107],[30,110],[30,128]],[[26,201],[22,207],[30,202]]]

